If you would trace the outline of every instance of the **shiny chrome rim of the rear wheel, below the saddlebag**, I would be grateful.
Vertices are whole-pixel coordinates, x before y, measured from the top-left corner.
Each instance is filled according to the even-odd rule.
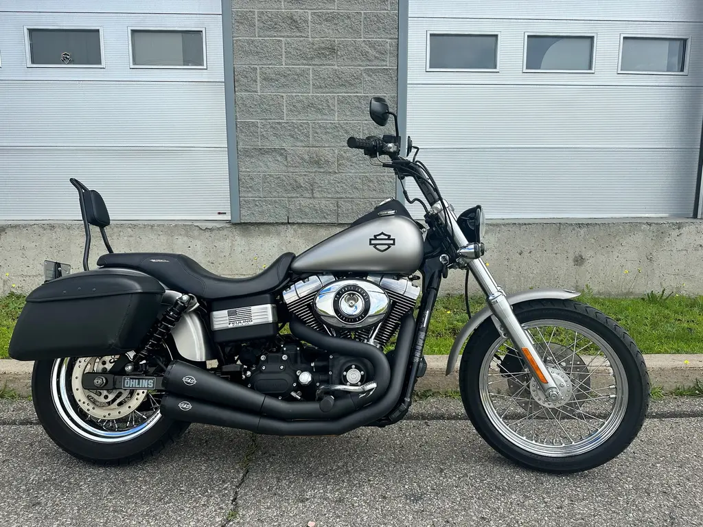
[[[101,357],[92,357],[87,362],[101,360]],[[74,383],[77,371],[76,365],[85,359],[60,358],[53,362],[51,368],[51,397],[53,405],[60,419],[79,436],[96,441],[97,443],[122,443],[130,441],[151,429],[161,419],[159,411],[158,393],[143,393],[134,396],[140,397],[138,404],[124,403],[124,412],[115,419],[98,419],[96,408],[91,412],[86,411],[86,401],[96,401],[96,396],[89,395],[90,390],[84,390],[75,396],[76,384]],[[82,366],[84,367],[84,366]],[[114,400],[115,397],[111,397]],[[124,401],[124,398],[122,399]],[[144,408],[147,405],[147,408]],[[83,406],[83,408],[82,408]],[[129,407],[129,408],[128,408]],[[122,408],[122,407],[121,407]],[[98,410],[99,412],[99,410]]]

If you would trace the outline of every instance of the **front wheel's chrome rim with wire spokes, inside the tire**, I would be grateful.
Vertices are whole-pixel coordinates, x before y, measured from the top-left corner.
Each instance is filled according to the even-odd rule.
[[[598,334],[566,320],[534,320],[522,327],[557,384],[564,384],[565,400],[553,405],[541,398],[527,368],[508,357],[515,356],[510,339],[500,337],[479,372],[481,403],[491,424],[536,455],[567,457],[598,448],[618,429],[627,408],[627,377],[617,353]]]

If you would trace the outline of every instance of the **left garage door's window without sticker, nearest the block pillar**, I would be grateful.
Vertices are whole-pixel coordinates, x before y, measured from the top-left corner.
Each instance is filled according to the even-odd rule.
[[[131,67],[205,69],[205,30],[130,30]]]

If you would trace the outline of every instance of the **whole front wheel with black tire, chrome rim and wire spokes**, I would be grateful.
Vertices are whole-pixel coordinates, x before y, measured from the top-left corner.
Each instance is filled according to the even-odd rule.
[[[650,391],[636,344],[591,306],[536,300],[513,306],[562,393],[546,399],[491,318],[472,334],[459,372],[461,398],[491,447],[524,467],[577,472],[619,455],[640,431]]]

